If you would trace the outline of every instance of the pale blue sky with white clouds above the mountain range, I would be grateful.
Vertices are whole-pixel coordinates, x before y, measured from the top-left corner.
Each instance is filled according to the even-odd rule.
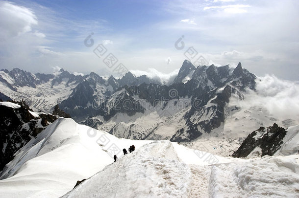
[[[297,0],[0,1],[0,64],[114,74],[93,53],[104,44],[135,73],[174,75],[193,47],[206,65],[241,62],[258,76],[298,81],[298,9]]]

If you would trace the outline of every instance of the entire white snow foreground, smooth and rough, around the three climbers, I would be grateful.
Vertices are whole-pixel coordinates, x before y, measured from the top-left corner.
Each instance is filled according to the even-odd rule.
[[[118,153],[132,144],[133,153]],[[295,158],[221,157],[168,140],[120,139],[59,118],[15,154],[2,172],[0,198],[298,197]]]

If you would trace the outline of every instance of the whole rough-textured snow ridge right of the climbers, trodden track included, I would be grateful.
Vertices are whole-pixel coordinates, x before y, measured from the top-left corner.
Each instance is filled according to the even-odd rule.
[[[220,158],[221,164],[211,166],[203,165],[204,160],[192,161],[192,153],[169,141],[152,142],[106,166],[62,198],[299,196],[299,165],[293,159],[298,155],[226,159],[226,163]]]

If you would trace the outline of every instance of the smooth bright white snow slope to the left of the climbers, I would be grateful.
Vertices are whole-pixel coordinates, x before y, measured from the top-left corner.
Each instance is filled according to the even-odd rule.
[[[72,119],[58,118],[7,164],[0,176],[0,197],[57,198],[71,190],[76,180],[112,163],[113,152],[121,156],[118,148],[127,149],[132,144],[139,148],[146,143],[119,139]]]

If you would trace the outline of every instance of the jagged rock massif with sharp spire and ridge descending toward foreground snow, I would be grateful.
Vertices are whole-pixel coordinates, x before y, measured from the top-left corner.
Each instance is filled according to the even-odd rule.
[[[256,77],[243,69],[241,64],[230,73],[228,66],[211,65],[196,68],[192,79],[185,84],[191,89],[193,106],[185,115],[186,124],[174,134],[171,141],[190,141],[203,132],[211,132],[220,127],[225,119],[224,107],[231,94],[235,93],[242,99],[240,90],[255,88]],[[223,90],[218,91],[219,88]],[[196,102],[199,105],[195,106]]]

